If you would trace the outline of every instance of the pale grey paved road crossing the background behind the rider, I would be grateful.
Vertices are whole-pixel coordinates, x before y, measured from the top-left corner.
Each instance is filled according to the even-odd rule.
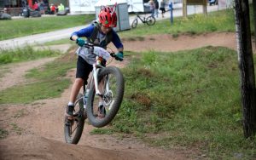
[[[218,10],[218,6],[207,6],[207,12],[212,12]],[[201,6],[195,6],[193,8],[188,9],[188,14],[200,14],[202,13],[202,7]],[[148,14],[149,15],[149,14]],[[159,17],[156,18],[156,20],[164,20],[164,19],[170,19],[170,12],[166,12],[165,18],[161,17],[161,14],[159,14]],[[183,15],[183,9],[177,8],[173,10],[173,17],[178,17]],[[132,23],[132,20],[135,19],[135,16],[130,16],[130,24]],[[139,20],[139,23],[142,23]],[[175,19],[174,19],[175,23]],[[15,49],[17,47],[22,47],[26,45],[33,45],[33,44],[42,44],[50,41],[60,40],[63,38],[69,38],[70,35],[73,33],[73,31],[78,31],[84,27],[84,26],[76,26],[68,29],[62,29],[58,31],[49,31],[41,34],[35,34],[31,36],[26,37],[16,37],[14,39],[4,40],[0,41],[0,49]]]

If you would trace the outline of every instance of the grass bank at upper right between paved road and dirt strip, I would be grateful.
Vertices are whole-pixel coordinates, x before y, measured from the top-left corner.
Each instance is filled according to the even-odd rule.
[[[253,9],[251,9],[250,15],[251,31],[254,34]],[[154,26],[138,25],[135,30],[121,31],[119,35],[125,39],[153,34],[171,34],[177,37],[179,34],[195,35],[212,31],[236,31],[233,9],[210,12],[207,16],[204,14],[189,15],[187,19],[175,17],[173,25],[170,20],[158,20]]]

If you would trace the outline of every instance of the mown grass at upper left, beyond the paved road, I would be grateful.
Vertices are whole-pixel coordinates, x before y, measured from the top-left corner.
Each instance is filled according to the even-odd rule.
[[[94,19],[95,14],[1,20],[0,41],[73,26],[83,26],[89,24]]]

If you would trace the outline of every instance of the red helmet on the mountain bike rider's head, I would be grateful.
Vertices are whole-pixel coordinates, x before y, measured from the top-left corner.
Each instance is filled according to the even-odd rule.
[[[100,23],[106,27],[116,27],[117,16],[113,8],[103,7],[99,14]]]

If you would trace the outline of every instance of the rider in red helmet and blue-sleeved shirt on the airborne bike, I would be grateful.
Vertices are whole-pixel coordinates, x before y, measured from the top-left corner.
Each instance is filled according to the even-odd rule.
[[[84,83],[87,83],[90,71],[92,71],[92,65],[95,62],[96,55],[90,52],[90,49],[84,48],[84,39],[81,37],[86,37],[88,43],[93,43],[96,46],[107,49],[108,43],[113,43],[117,48],[118,52],[115,54],[116,60],[122,61],[123,56],[123,44],[120,41],[118,34],[113,31],[113,27],[117,26],[117,15],[115,13],[114,7],[104,6],[102,7],[99,15],[98,22],[87,26],[79,31],[74,31],[70,37],[71,40],[75,41],[80,48],[77,50],[78,60],[77,60],[77,72],[76,79],[73,83],[73,87],[70,94],[70,99],[66,107],[66,116],[72,118],[74,110],[74,101],[76,96],[79,94],[79,90]],[[99,114],[100,117],[104,117],[104,107],[103,103],[99,104]]]

